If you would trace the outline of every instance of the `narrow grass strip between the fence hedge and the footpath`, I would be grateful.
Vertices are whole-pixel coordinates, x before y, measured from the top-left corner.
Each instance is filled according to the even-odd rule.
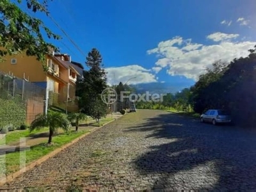
[[[47,132],[49,128],[45,127],[44,129],[40,129],[37,131],[30,132],[29,129],[26,130],[15,130],[12,132],[8,132],[6,134],[5,138],[0,140],[0,145],[8,145],[10,143],[18,142],[20,138],[33,136],[34,134],[41,133],[41,132]]]

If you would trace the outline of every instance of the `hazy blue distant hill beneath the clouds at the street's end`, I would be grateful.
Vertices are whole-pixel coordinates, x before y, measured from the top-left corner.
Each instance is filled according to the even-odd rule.
[[[177,93],[184,88],[189,88],[193,84],[182,83],[141,83],[131,84],[132,88],[136,89],[137,93]]]

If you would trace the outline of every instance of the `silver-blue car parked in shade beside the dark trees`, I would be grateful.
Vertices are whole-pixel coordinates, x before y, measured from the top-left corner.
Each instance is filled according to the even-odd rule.
[[[209,109],[200,118],[201,122],[210,122],[213,125],[231,123],[230,113],[223,109]]]

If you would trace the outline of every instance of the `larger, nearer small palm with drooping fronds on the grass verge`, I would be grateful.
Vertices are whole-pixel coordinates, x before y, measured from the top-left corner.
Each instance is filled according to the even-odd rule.
[[[70,122],[65,114],[55,111],[48,111],[47,115],[38,115],[31,123],[29,130],[32,132],[35,129],[38,130],[43,127],[49,127],[48,144],[51,144],[54,132],[56,132],[58,128],[68,131]]]

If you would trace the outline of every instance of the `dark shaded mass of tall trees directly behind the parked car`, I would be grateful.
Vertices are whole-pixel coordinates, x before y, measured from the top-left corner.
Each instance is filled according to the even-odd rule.
[[[194,110],[227,109],[236,124],[256,125],[256,46],[246,58],[234,59],[226,67],[213,66],[201,76],[193,92]]]

